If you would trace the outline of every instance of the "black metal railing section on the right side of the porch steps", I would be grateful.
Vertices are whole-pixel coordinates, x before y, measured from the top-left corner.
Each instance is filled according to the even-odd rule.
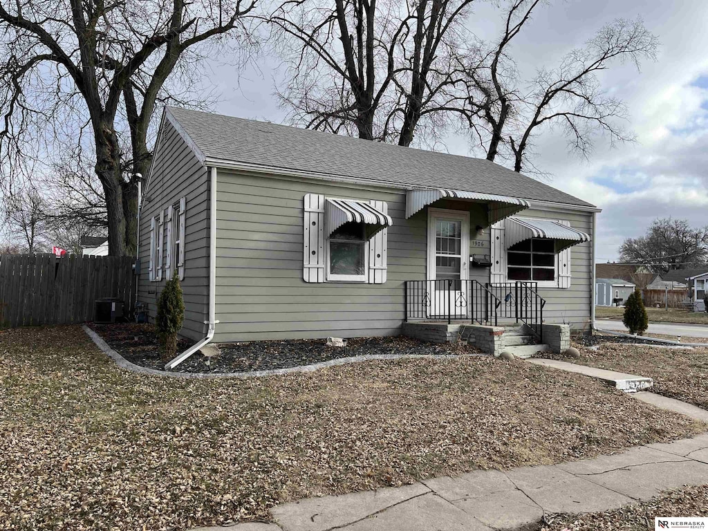
[[[489,290],[501,300],[499,316],[522,322],[543,341],[543,308],[546,300],[538,294],[538,282],[501,282],[487,284]]]

